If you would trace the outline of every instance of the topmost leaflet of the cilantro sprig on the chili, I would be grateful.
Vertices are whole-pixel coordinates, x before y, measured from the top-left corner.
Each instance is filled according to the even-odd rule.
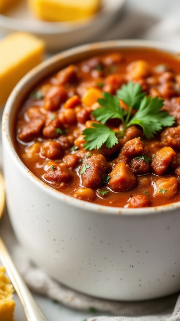
[[[128,82],[123,84],[121,89],[116,92],[116,96],[123,100],[131,109],[139,107],[141,100],[145,96],[145,92],[142,92],[142,87],[138,82]]]

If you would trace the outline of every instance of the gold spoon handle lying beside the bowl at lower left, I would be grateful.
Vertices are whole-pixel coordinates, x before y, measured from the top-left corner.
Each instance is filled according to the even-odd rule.
[[[28,321],[47,321],[37,303],[33,299],[27,285],[17,271],[12,258],[0,237],[0,259],[6,267],[9,278],[22,303]]]

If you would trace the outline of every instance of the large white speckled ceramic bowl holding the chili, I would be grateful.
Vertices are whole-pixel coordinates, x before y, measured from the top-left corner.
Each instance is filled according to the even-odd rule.
[[[43,77],[81,58],[115,48],[179,48],[146,41],[111,41],[58,54],[15,87],[3,115],[7,206],[30,258],[53,278],[92,296],[142,300],[180,290],[180,202],[157,208],[100,206],[66,196],[36,178],[13,146],[21,102]]]

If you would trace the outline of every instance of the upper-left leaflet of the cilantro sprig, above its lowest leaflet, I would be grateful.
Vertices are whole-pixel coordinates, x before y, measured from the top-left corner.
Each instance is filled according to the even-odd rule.
[[[112,96],[109,92],[103,92],[102,96],[104,98],[98,99],[98,103],[102,107],[99,107],[92,112],[92,115],[96,120],[105,124],[110,118],[119,118],[122,123],[124,123],[124,116],[127,114],[127,111],[120,107],[119,99],[116,96]]]

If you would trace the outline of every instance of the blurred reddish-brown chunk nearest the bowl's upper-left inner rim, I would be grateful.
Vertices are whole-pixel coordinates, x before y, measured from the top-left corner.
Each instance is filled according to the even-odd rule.
[[[78,81],[78,67],[69,65],[67,68],[62,69],[57,73],[56,79],[60,85],[66,83],[73,83]]]

